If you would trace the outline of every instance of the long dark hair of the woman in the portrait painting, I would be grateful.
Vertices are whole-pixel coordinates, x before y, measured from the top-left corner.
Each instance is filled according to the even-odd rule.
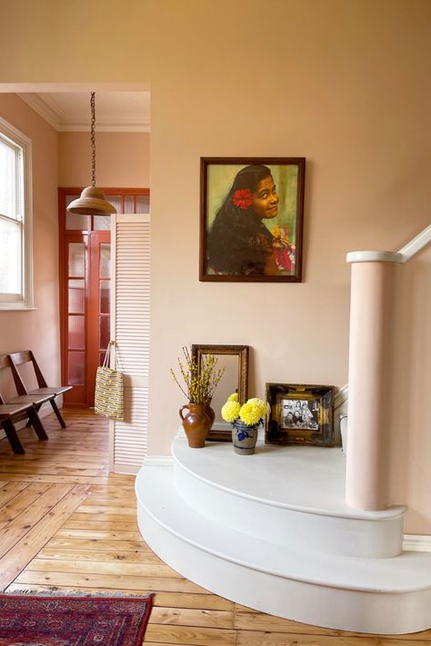
[[[273,236],[253,209],[241,208],[234,197],[245,189],[256,193],[259,182],[268,176],[271,171],[261,164],[246,166],[236,174],[207,237],[207,263],[215,273],[264,273],[267,247],[272,246]]]

